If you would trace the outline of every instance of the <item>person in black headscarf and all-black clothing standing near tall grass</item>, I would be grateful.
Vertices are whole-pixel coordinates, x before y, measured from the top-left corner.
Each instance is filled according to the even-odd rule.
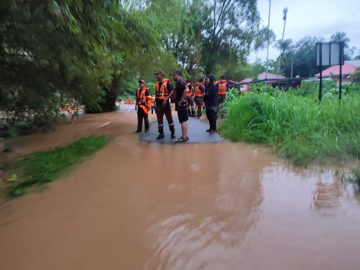
[[[206,116],[210,123],[210,128],[206,132],[210,134],[216,133],[216,110],[219,105],[217,99],[217,86],[214,84],[215,77],[211,74],[206,76],[206,87],[204,94],[204,104],[206,108]]]

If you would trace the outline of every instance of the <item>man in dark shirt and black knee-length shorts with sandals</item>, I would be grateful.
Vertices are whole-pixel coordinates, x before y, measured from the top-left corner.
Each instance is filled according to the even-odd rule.
[[[179,122],[181,123],[181,131],[183,135],[177,138],[176,142],[188,141],[188,123],[186,121],[188,118],[188,99],[187,94],[189,92],[188,87],[186,87],[186,82],[182,78],[183,73],[181,70],[174,71],[174,80],[176,81],[176,105],[177,105],[177,117],[179,117]]]

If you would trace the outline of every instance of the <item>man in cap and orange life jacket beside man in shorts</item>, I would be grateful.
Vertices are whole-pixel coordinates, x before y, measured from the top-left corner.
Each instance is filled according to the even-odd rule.
[[[174,120],[172,120],[171,105],[170,105],[170,96],[174,89],[170,83],[170,79],[165,79],[165,73],[163,70],[154,72],[158,82],[155,84],[155,104],[156,104],[156,116],[158,120],[158,131],[159,136],[156,139],[165,138],[164,134],[164,114],[169,123],[169,129],[171,131],[171,138],[175,138],[175,125]]]

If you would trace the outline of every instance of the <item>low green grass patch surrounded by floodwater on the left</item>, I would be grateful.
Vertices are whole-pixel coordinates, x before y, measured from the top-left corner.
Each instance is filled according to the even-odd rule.
[[[107,144],[104,136],[81,137],[72,143],[54,149],[34,152],[11,165],[19,176],[19,182],[8,190],[10,197],[18,197],[32,186],[54,181],[70,167],[78,164],[82,157],[91,156]],[[14,180],[17,180],[17,177]]]

